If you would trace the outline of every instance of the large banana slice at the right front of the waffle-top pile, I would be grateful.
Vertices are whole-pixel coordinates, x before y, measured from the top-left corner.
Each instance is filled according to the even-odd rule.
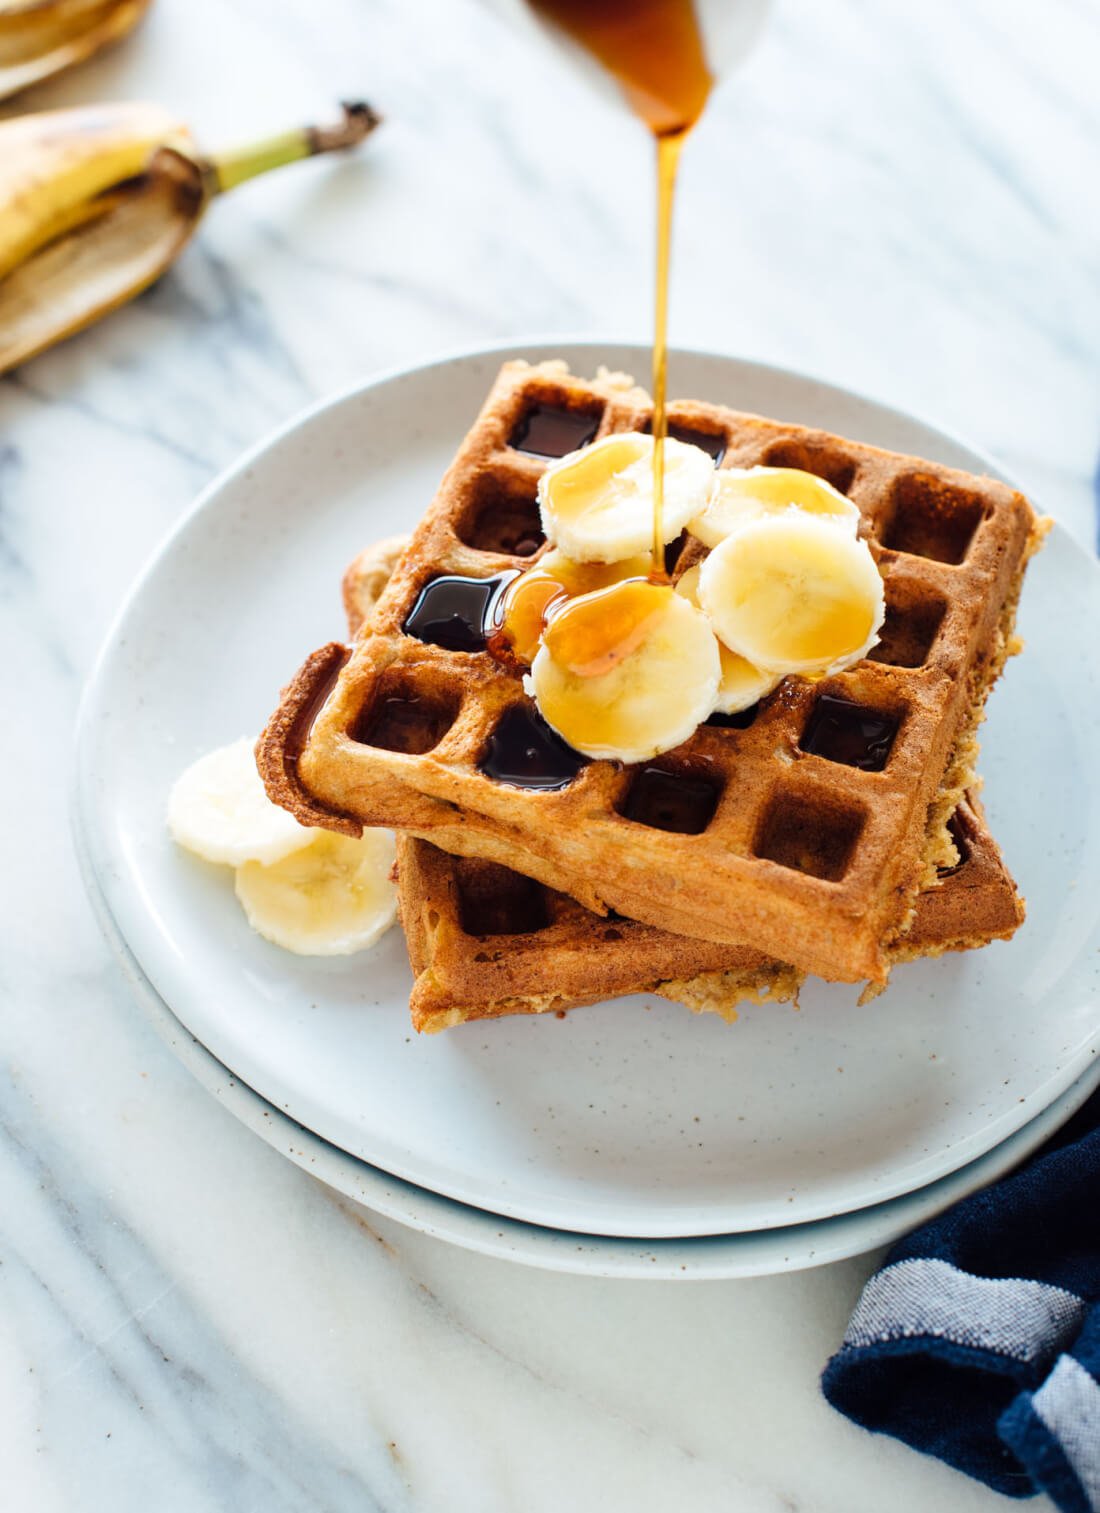
[[[750,520],[707,557],[699,604],[719,640],[775,673],[832,673],[865,657],[885,617],[865,542],[800,510]]]

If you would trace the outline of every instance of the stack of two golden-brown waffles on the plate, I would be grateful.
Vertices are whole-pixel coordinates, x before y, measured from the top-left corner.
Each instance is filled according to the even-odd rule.
[[[670,422],[717,466],[799,468],[852,499],[885,584],[881,640],[654,761],[572,752],[490,655],[493,605],[545,549],[543,469],[646,430],[651,407],[616,375],[507,363],[377,602],[377,563],[351,566],[353,645],[306,661],[257,747],[303,823],[398,832],[418,1029],[637,991],[732,1017],[808,973],[875,991],[899,961],[1023,918],[974,760],[1041,539],[1027,501],[720,405]],[[672,576],[702,555],[682,537]]]

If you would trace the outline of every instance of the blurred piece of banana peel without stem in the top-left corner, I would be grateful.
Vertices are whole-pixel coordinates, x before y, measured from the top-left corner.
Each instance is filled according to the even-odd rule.
[[[150,0],[0,0],[0,100],[120,41],[148,8]]]

